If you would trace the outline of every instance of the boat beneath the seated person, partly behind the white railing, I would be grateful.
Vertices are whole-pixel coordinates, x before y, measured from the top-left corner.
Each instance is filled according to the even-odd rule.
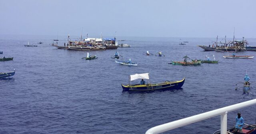
[[[232,127],[227,130],[227,134],[256,134],[256,125],[248,125],[244,123],[244,127],[242,128],[242,132],[234,132],[235,127]],[[213,134],[220,134],[220,130],[217,130]]]

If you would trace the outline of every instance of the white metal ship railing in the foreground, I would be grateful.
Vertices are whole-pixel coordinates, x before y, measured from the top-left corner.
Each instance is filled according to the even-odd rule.
[[[202,114],[197,114],[197,115],[194,115],[194,116],[190,116],[190,117],[187,117],[187,118],[183,118],[183,119],[180,119],[180,120],[176,120],[176,121],[173,121],[173,122],[169,122],[169,123],[166,123],[166,124],[155,126],[153,128],[150,128],[146,132],[146,134],[159,134],[159,133],[162,133],[162,132],[173,130],[175,128],[186,126],[188,124],[199,122],[201,120],[206,120],[208,118],[212,118],[212,117],[219,116],[219,115],[220,115],[220,131],[221,131],[220,134],[227,134],[228,112],[238,110],[238,109],[241,109],[241,108],[245,108],[245,107],[248,107],[248,106],[252,106],[252,105],[255,105],[255,104],[256,104],[256,99],[249,100],[249,101],[246,101],[246,102],[241,102],[241,103],[234,104],[234,105],[231,105],[231,106],[226,106],[226,107],[219,108],[219,109],[216,109],[216,110],[212,110],[212,111],[209,111],[209,112],[205,112],[205,113],[202,113]]]

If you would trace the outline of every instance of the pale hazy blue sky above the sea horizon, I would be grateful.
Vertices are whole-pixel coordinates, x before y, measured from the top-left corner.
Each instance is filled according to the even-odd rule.
[[[256,38],[256,0],[0,0],[0,34]]]

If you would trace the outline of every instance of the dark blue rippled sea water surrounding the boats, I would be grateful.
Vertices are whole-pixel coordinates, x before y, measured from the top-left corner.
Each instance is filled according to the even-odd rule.
[[[1,134],[143,134],[151,127],[200,114],[216,108],[256,98],[256,91],[242,95],[234,84],[243,81],[248,71],[256,81],[255,58],[226,59],[225,52],[206,52],[200,44],[214,38],[139,38],[123,37],[131,48],[118,48],[120,55],[138,62],[138,66],[116,64],[116,50],[92,51],[98,59],[82,60],[85,51],[59,50],[50,46],[54,36],[0,36],[0,56],[13,61],[0,62],[0,71],[14,68],[13,78],[0,80]],[[64,37],[63,37],[64,38]],[[182,39],[182,40],[180,40]],[[38,44],[38,47],[23,45]],[[178,45],[188,41],[187,45]],[[60,40],[62,44],[65,40]],[[256,39],[248,39],[250,45]],[[121,42],[119,42],[120,44]],[[165,57],[145,56],[162,51]],[[204,58],[219,64],[174,66],[171,60]],[[255,52],[237,52],[254,55]],[[150,73],[151,83],[182,80],[182,90],[146,93],[122,92],[128,75]],[[139,81],[135,81],[139,82]],[[255,123],[255,106],[238,110],[245,123]],[[235,123],[238,111],[228,113],[228,127]],[[177,128],[166,133],[211,134],[220,129],[220,116]]]

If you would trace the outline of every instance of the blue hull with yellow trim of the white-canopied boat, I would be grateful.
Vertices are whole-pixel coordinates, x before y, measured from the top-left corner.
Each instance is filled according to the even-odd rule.
[[[124,85],[122,84],[123,92],[130,91],[153,91],[153,90],[176,90],[181,89],[185,82],[185,78],[176,82],[164,82],[158,84],[146,84],[146,85]]]

